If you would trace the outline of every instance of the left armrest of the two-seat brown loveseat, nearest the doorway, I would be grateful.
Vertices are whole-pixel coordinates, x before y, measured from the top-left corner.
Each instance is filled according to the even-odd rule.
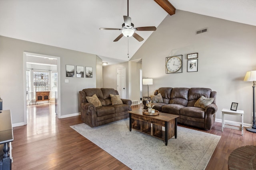
[[[81,118],[90,127],[96,127],[97,115],[95,106],[87,102],[81,103]]]

